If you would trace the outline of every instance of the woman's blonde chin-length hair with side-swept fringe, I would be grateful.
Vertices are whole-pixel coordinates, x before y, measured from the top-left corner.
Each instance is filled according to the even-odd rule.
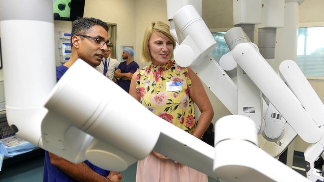
[[[153,32],[157,32],[162,36],[167,37],[172,41],[173,49],[175,47],[175,40],[173,39],[172,35],[170,34],[170,26],[163,23],[162,21],[152,21],[150,22],[149,26],[145,30],[144,39],[142,43],[142,61],[143,62],[151,62],[152,55],[149,49],[149,41],[152,36]],[[171,53],[171,58],[173,58],[173,51]]]

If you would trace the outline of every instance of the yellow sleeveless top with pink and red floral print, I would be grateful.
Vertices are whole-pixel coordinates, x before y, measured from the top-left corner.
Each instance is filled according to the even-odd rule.
[[[170,60],[162,66],[150,64],[138,70],[136,91],[140,102],[167,122],[192,134],[197,123],[189,94],[188,69]],[[166,82],[181,82],[182,91],[166,91]]]

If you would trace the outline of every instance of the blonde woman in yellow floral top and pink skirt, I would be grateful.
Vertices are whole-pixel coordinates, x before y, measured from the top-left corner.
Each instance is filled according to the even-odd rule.
[[[213,109],[196,74],[171,59],[174,47],[169,26],[161,21],[151,22],[142,45],[142,59],[149,65],[134,73],[130,94],[167,122],[201,138],[211,122]],[[194,103],[201,111],[198,121]],[[207,181],[207,175],[154,151],[137,166],[136,182]]]

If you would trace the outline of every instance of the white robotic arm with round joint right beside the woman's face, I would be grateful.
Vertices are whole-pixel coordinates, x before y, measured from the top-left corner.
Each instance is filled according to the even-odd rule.
[[[188,14],[194,14],[194,16],[189,16],[192,19],[188,17],[183,18]],[[216,41],[199,16],[199,13],[192,5],[186,5],[174,12],[172,19],[175,22],[176,29],[182,30],[177,31],[176,34],[180,41],[179,47],[174,52],[176,63],[180,66],[190,66],[228,110],[232,114],[237,114],[236,84],[228,77],[219,64],[208,55],[211,49],[216,46]]]

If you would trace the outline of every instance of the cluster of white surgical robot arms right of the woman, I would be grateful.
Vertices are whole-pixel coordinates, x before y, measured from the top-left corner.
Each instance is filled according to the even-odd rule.
[[[281,9],[281,14],[283,14],[285,4],[283,0],[281,2],[263,0],[262,1],[263,4],[261,3],[261,1],[259,1],[259,3],[256,2],[257,1],[255,0],[252,1],[242,0],[241,2],[237,2],[236,0],[233,0],[234,12],[236,12],[235,11],[235,6],[236,6],[236,8],[237,7],[240,8],[239,12],[242,13],[239,14],[239,17],[237,18],[235,17],[235,13],[234,13],[234,24],[238,25],[240,23],[244,24],[244,23],[251,23],[251,22],[258,23],[258,20],[255,20],[255,17],[258,16],[253,15],[255,12],[259,12],[258,10],[255,10],[255,8],[257,8],[255,7],[255,4],[259,4],[260,8],[268,7],[268,9],[270,10],[267,10],[266,11],[267,13],[263,15],[265,19],[262,20],[263,24],[260,26],[261,29],[263,29],[261,31],[261,36],[259,35],[259,44],[261,44],[262,46],[262,51],[260,51],[260,53],[264,54],[265,57],[269,59],[274,59],[275,31],[273,30],[273,28],[282,27],[283,23],[281,21],[279,21],[278,23],[277,21],[272,20],[272,19],[276,19],[277,18],[276,16],[275,18],[272,19],[270,18],[273,17],[273,14],[271,13],[272,12],[271,9],[276,9],[275,11],[276,13],[278,13],[278,11],[280,11]],[[195,3],[197,2],[195,1]],[[179,6],[181,5],[182,4],[180,4]],[[252,8],[249,9],[247,7],[252,7]],[[199,9],[199,6],[197,9]],[[244,9],[247,11],[245,14],[243,13]],[[225,55],[225,58],[223,60],[227,61],[227,63],[225,64],[225,68],[226,67],[231,68],[231,69],[224,69],[226,70],[226,73],[228,73],[228,75],[231,76],[233,75],[237,76],[237,79],[233,81],[236,82],[237,84],[238,96],[235,97],[236,94],[231,95],[232,99],[235,98],[237,99],[236,101],[237,110],[232,109],[234,107],[231,107],[231,105],[227,103],[228,102],[233,103],[233,100],[224,97],[221,92],[214,89],[214,88],[222,88],[223,86],[225,86],[225,88],[227,89],[228,85],[232,85],[231,81],[228,78],[226,78],[226,74],[221,75],[221,70],[219,70],[219,66],[214,60],[212,60],[210,56],[206,56],[206,54],[204,54],[203,51],[201,52],[197,51],[197,50],[205,50],[204,48],[208,46],[209,46],[208,48],[210,49],[212,43],[210,43],[207,46],[209,42],[206,41],[207,39],[206,37],[201,38],[196,35],[196,32],[198,31],[196,32],[192,30],[190,31],[188,30],[189,28],[187,28],[189,27],[189,24],[191,26],[195,26],[194,24],[198,24],[196,23],[196,21],[198,21],[197,20],[198,14],[196,14],[195,17],[193,17],[193,15],[189,17],[190,19],[188,18],[189,20],[187,19],[185,23],[181,24],[176,22],[179,21],[178,19],[180,18],[188,17],[188,14],[190,14],[189,12],[193,10],[187,10],[187,11],[188,12],[183,13],[182,16],[181,15],[174,16],[173,19],[170,21],[171,24],[172,21],[174,21],[174,23],[176,24],[175,32],[180,34],[180,36],[177,36],[178,41],[180,41],[179,47],[183,46],[182,49],[186,49],[186,51],[182,51],[180,49],[180,51],[182,52],[179,53],[177,48],[177,50],[175,51],[176,62],[182,66],[190,66],[201,78],[201,80],[205,82],[207,87],[211,89],[211,91],[224,103],[224,105],[233,114],[238,113],[240,115],[246,115],[250,117],[253,121],[255,121],[259,133],[262,133],[267,140],[271,141],[268,142],[266,145],[264,145],[263,149],[267,149],[268,150],[267,152],[272,156],[278,157],[283,152],[283,150],[286,149],[286,147],[293,141],[293,139],[297,136],[297,134],[300,134],[300,132],[302,132],[300,136],[303,138],[303,140],[305,140],[308,143],[315,144],[315,146],[318,145],[317,147],[315,146],[310,147],[305,152],[305,158],[307,161],[307,166],[306,166],[307,176],[312,181],[317,181],[317,180],[323,181],[323,177],[321,176],[321,171],[314,169],[314,162],[323,153],[323,142],[321,139],[323,132],[322,130],[319,129],[323,126],[323,119],[324,119],[323,103],[321,102],[320,98],[315,93],[313,88],[310,86],[310,84],[307,82],[305,76],[299,70],[296,63],[287,60],[280,65],[280,74],[283,77],[283,80],[285,81],[284,82],[268,64],[267,61],[269,60],[266,61],[263,58],[263,56],[259,54],[258,47],[255,44],[249,43],[251,42],[249,37],[245,34],[245,32],[242,31],[241,28],[236,27],[229,30],[225,34],[225,40],[230,50],[232,51],[229,52],[229,54]],[[252,15],[250,12],[253,12]],[[168,14],[168,19],[170,20],[171,18],[172,15]],[[199,27],[202,26],[199,25]],[[270,30],[268,30],[268,28],[270,28]],[[203,31],[199,30],[199,32],[203,32]],[[199,38],[196,38],[196,41],[190,42],[191,39],[190,36],[199,37],[200,40],[204,40],[204,41],[199,42]],[[201,36],[206,36],[206,32],[201,33]],[[209,40],[210,42],[212,42],[211,36],[209,36]],[[272,40],[272,42],[266,43],[266,40]],[[239,46],[239,48],[242,50],[235,51],[235,49],[237,50],[236,46]],[[253,50],[256,51],[257,54],[252,54]],[[190,52],[190,51],[194,55],[190,57],[191,59],[182,56],[185,52]],[[250,57],[247,57],[245,52],[249,53],[248,55],[250,55]],[[246,58],[243,59],[243,57]],[[222,59],[220,61],[222,61]],[[222,64],[222,62],[220,62],[220,64]],[[287,64],[289,65],[287,66]],[[253,67],[251,67],[251,65],[253,65]],[[204,69],[200,69],[201,67],[204,67]],[[285,68],[286,71],[284,71]],[[296,75],[298,75],[299,77],[296,77]],[[289,77],[289,79],[287,77]],[[214,80],[217,80],[220,83],[208,82]],[[299,82],[302,82],[303,84],[300,84]],[[295,85],[294,88],[292,85]],[[287,86],[291,91],[288,89]],[[229,93],[235,92],[234,91],[235,88],[234,87],[231,88],[232,90],[230,90]],[[260,96],[260,93],[258,92],[259,90],[262,91],[263,94],[266,96],[266,99],[270,101],[269,106],[265,104],[264,99]],[[295,95],[293,94],[293,92]],[[298,92],[299,94],[296,94],[296,92]],[[240,97],[243,97],[243,99]],[[256,107],[259,106],[260,108],[260,101],[263,102],[263,105],[266,105],[266,108],[263,108],[264,111],[266,111],[264,115],[260,114],[261,109],[259,109],[259,111],[257,109],[254,109],[255,106]],[[252,105],[252,107],[250,105]],[[306,108],[305,105],[307,105],[308,108]],[[251,112],[251,108],[253,108],[252,112]],[[280,113],[282,114],[280,114],[277,110],[280,110]],[[301,115],[297,114],[296,111],[299,112],[299,114]],[[258,117],[260,115],[261,117]],[[264,117],[265,118],[264,120],[267,121],[264,130],[262,127],[262,120],[261,120],[262,117]],[[287,123],[286,123],[286,119],[288,121]],[[298,119],[301,120],[298,121]],[[306,128],[309,127],[308,129],[310,130],[306,129],[305,127]],[[316,132],[315,135],[311,135],[311,133],[314,134],[311,131],[315,131]],[[302,135],[304,135],[305,137],[307,135],[307,137],[305,138]],[[283,143],[281,143],[280,140]],[[273,143],[273,141],[275,141],[276,143]]]

